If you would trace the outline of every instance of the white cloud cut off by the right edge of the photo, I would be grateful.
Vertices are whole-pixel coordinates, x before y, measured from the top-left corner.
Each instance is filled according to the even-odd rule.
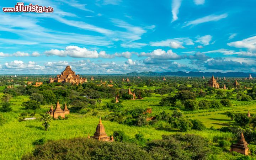
[[[256,50],[256,36],[243,39],[242,41],[230,42],[228,43],[228,46]]]

